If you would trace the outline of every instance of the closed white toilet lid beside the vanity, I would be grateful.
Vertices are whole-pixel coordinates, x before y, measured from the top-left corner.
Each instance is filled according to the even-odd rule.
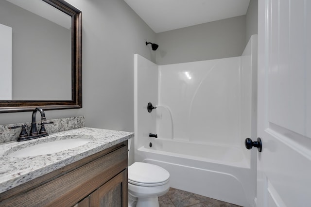
[[[134,162],[128,167],[128,182],[141,186],[164,185],[169,181],[170,173],[160,166]]]

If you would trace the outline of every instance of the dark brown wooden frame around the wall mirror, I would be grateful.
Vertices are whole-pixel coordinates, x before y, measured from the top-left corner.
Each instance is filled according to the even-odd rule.
[[[43,0],[71,16],[71,100],[0,100],[0,113],[82,108],[82,12],[64,0]]]

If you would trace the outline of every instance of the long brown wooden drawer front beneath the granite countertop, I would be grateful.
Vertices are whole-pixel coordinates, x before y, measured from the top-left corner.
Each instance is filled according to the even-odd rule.
[[[81,167],[53,177],[48,182],[42,182],[44,184],[35,189],[17,193],[0,202],[0,206],[73,206],[127,168],[127,145],[123,144],[120,148],[95,158],[87,160]],[[78,162],[75,163],[76,166],[79,165]]]

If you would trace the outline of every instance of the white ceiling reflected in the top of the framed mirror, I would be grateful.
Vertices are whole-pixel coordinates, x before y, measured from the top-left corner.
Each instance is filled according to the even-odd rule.
[[[23,9],[26,9],[38,16],[42,16],[62,27],[71,28],[71,16],[55,9],[43,0],[7,0]],[[51,9],[53,8],[53,9]]]

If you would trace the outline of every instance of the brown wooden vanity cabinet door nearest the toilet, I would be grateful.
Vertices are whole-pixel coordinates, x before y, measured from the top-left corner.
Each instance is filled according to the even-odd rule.
[[[89,196],[90,207],[127,207],[127,169]]]

